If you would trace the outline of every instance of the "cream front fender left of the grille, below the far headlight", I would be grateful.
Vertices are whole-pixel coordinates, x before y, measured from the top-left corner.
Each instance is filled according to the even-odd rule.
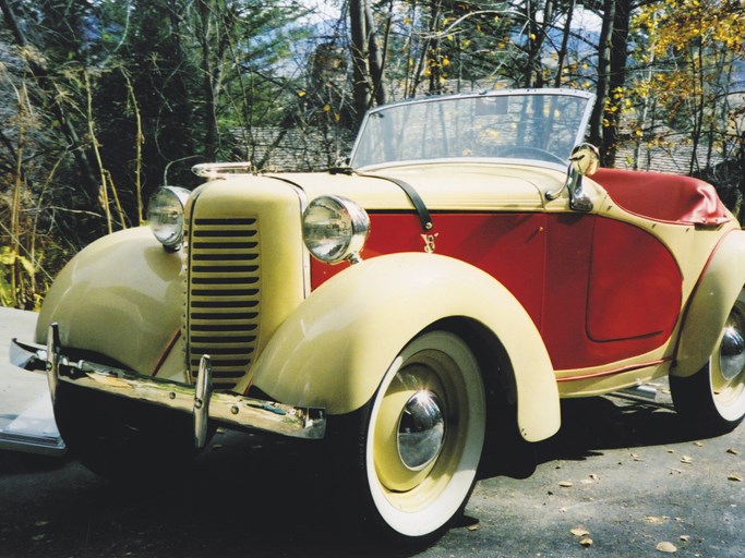
[[[60,324],[63,347],[154,374],[181,327],[183,256],[146,227],[104,236],[64,267],[45,298],[36,342]],[[181,371],[182,373],[183,371]]]

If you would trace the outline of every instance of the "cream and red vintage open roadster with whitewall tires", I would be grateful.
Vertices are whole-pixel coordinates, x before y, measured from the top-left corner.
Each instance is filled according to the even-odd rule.
[[[408,543],[464,509],[505,421],[556,433],[561,398],[669,376],[692,428],[732,429],[745,233],[709,184],[598,169],[593,101],[414,99],[327,172],[200,165],[70,262],[12,359],[94,471],[185,468],[216,425],[313,439],[329,495]]]

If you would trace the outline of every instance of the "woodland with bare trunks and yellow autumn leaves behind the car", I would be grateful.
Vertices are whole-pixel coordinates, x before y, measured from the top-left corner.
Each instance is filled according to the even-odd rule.
[[[745,192],[744,0],[0,0],[0,305],[143,222],[192,165],[323,169],[371,106],[494,87],[599,101],[605,166]],[[661,168],[664,167],[664,168]]]

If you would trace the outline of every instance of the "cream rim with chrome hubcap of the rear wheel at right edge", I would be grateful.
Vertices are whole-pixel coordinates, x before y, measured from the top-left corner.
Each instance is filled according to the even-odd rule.
[[[712,359],[711,388],[718,407],[725,408],[745,401],[745,302],[738,300],[722,330],[722,338]]]

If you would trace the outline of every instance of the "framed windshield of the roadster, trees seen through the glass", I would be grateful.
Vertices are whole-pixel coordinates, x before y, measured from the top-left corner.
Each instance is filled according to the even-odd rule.
[[[581,92],[532,89],[381,107],[368,113],[351,166],[464,157],[566,165],[582,141],[593,99]]]

